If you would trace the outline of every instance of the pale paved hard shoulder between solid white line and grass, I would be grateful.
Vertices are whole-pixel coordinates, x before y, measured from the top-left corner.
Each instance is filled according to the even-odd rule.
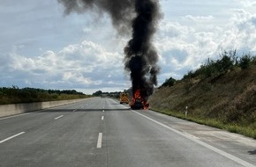
[[[255,153],[252,154],[256,148],[256,141],[252,138],[226,132],[215,127],[207,127],[191,121],[169,117],[161,113],[152,111],[137,112],[143,113],[154,120],[161,121],[164,125],[177,129],[193,138],[200,139],[200,141],[206,142],[216,149],[221,149],[230,155],[237,156],[254,165],[256,164]]]

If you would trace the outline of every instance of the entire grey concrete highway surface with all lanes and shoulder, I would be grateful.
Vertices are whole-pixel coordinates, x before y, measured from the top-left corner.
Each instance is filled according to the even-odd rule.
[[[0,118],[0,166],[256,166],[256,141],[110,98]]]

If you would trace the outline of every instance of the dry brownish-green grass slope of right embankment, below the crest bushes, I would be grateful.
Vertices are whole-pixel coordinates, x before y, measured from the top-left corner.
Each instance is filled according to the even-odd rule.
[[[149,99],[154,110],[256,138],[256,66],[205,80],[162,87]],[[171,112],[170,112],[171,111]]]

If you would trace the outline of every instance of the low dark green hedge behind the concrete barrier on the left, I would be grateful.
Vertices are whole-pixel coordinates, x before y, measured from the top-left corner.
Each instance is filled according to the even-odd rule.
[[[31,103],[54,100],[67,100],[76,98],[89,98],[82,92],[75,90],[43,90],[35,88],[19,89],[17,86],[0,87],[0,105]]]

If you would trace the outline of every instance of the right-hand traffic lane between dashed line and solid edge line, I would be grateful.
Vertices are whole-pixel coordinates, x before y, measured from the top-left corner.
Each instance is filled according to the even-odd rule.
[[[134,113],[119,113],[106,119],[109,166],[242,166]]]

